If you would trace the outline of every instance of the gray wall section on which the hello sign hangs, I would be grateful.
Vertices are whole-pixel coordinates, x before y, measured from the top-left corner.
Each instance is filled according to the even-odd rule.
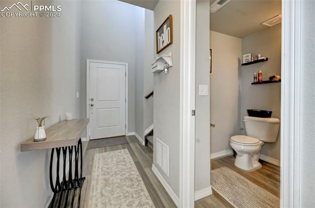
[[[172,52],[173,66],[168,74],[164,71],[154,73],[153,112],[154,139],[160,139],[169,147],[169,177],[158,167],[155,155],[153,155],[153,163],[175,194],[179,196],[180,1],[159,0],[154,9],[155,30],[170,14],[173,16],[173,44],[160,52],[158,56]],[[156,53],[155,57],[157,57]],[[156,147],[155,144],[154,147]],[[154,152],[156,152],[155,149]]]

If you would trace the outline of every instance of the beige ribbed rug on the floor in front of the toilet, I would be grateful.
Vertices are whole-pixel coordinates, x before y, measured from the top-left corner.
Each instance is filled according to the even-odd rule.
[[[211,170],[211,184],[235,208],[279,208],[279,198],[227,167]]]

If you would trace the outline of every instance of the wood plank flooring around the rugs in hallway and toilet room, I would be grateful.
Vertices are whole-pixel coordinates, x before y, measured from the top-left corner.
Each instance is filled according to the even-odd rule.
[[[89,205],[92,171],[94,157],[98,153],[110,152],[121,149],[128,149],[135,166],[144,182],[149,195],[156,208],[177,208],[170,196],[162,184],[158,181],[158,178],[152,171],[153,152],[149,147],[143,146],[135,136],[126,137],[128,144],[101,147],[96,149],[86,150],[83,161],[83,176],[86,180],[83,185],[83,191],[81,194],[81,206],[87,208]],[[83,144],[85,146],[85,144]],[[270,163],[260,161],[262,168],[248,173],[239,170],[234,166],[234,157],[228,156],[216,160],[212,160],[212,169],[226,166],[231,170],[244,176],[251,182],[259,185],[260,187],[268,190],[274,195],[280,195],[280,168]],[[195,202],[196,208],[233,208],[228,202],[226,202],[218,193],[214,191],[214,194]]]

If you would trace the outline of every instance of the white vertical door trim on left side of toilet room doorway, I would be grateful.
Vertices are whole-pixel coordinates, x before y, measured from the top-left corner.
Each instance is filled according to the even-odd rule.
[[[181,0],[180,208],[194,207],[195,117],[191,111],[195,109],[195,50],[196,0]]]

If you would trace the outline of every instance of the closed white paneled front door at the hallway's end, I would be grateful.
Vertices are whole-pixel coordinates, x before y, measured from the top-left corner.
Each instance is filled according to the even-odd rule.
[[[126,64],[88,61],[90,139],[126,134]]]

